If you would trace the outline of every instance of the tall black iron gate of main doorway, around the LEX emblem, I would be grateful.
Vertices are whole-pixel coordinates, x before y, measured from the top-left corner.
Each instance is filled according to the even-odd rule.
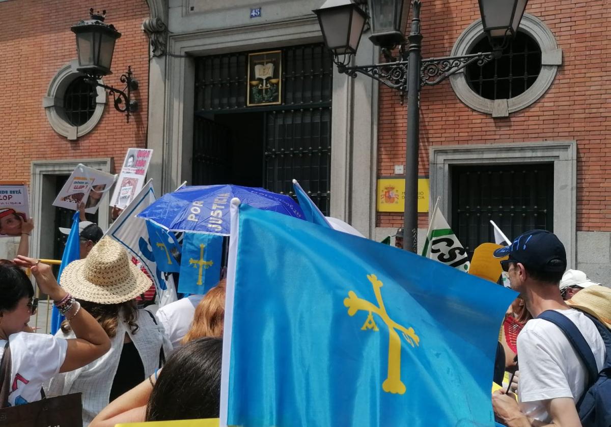
[[[196,59],[192,181],[194,185],[232,180],[240,184],[244,173],[235,163],[243,165],[244,159],[236,156],[250,148],[252,168],[259,175],[254,170],[247,173],[247,182],[293,195],[295,178],[328,215],[331,56],[321,44],[280,50],[282,105],[276,106],[246,106],[249,52]],[[245,129],[252,129],[251,137],[259,141],[260,156],[252,151],[256,141],[245,142]]]

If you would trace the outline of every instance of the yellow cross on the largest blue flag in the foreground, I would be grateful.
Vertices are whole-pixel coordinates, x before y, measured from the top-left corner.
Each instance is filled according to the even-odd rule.
[[[348,307],[348,315],[354,316],[357,311],[363,310],[369,312],[367,320],[362,330],[373,329],[378,331],[378,325],[376,325],[373,319],[373,314],[379,316],[379,318],[386,323],[389,331],[389,344],[388,344],[388,373],[387,378],[382,382],[382,390],[387,393],[395,393],[402,395],[405,393],[405,384],[401,381],[401,337],[397,331],[401,331],[404,339],[411,344],[412,347],[419,345],[420,338],[415,334],[414,328],[405,328],[399,325],[397,322],[392,320],[386,312],[384,307],[384,301],[382,301],[381,287],[382,282],[378,280],[375,274],[368,274],[367,279],[371,282],[373,287],[373,293],[376,295],[378,306],[370,303],[367,300],[362,300],[353,291],[348,292],[348,298],[344,299],[344,305]]]

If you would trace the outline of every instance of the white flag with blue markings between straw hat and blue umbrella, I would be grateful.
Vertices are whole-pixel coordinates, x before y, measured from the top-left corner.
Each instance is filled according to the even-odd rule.
[[[112,223],[106,235],[117,240],[133,256],[141,268],[144,268],[155,284],[159,297],[159,307],[177,300],[176,287],[171,274],[165,274],[157,269],[155,257],[148,242],[147,224],[144,218],[136,215],[155,201],[152,179],[142,187],[142,190],[132,199],[130,205],[121,212],[119,218]]]

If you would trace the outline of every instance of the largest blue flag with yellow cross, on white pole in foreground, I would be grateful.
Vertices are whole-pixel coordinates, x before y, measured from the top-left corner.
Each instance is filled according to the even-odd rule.
[[[492,426],[516,293],[232,201],[221,426]]]

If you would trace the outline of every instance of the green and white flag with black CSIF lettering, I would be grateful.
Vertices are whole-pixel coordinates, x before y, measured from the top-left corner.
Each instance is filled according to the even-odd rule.
[[[458,237],[448,225],[448,221],[445,220],[437,204],[428,227],[422,256],[458,268],[461,271],[469,271],[470,263],[467,251],[458,241]]]

